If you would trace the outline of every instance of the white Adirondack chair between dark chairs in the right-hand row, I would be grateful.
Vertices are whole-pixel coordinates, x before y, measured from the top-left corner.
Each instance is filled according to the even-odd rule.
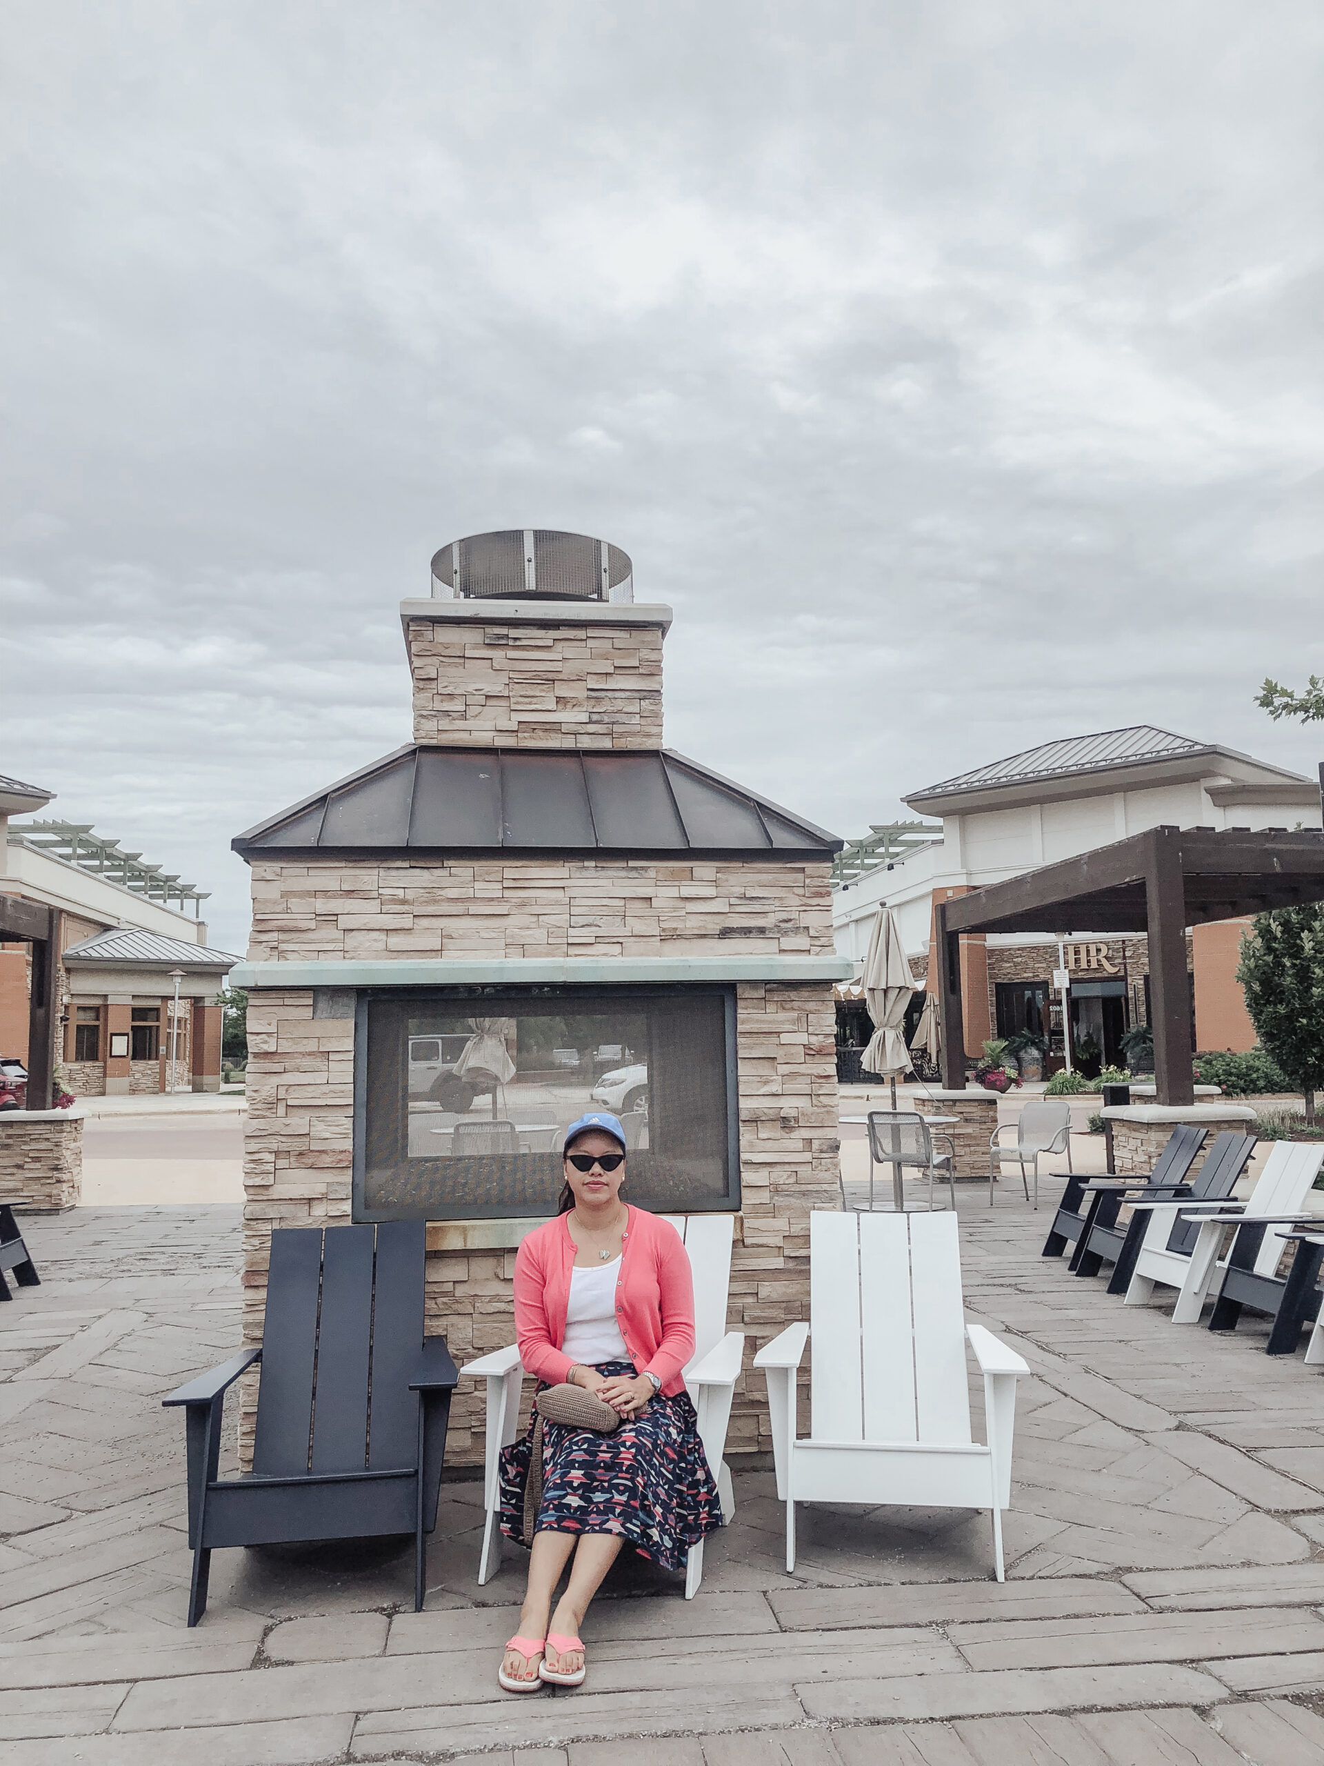
[[[1292,1219],[1301,1217],[1320,1164],[1324,1164],[1324,1143],[1278,1141],[1264,1160],[1264,1171],[1245,1210],[1239,1203],[1209,1203],[1204,1210],[1192,1203],[1147,1204],[1151,1220],[1135,1261],[1135,1275],[1126,1289],[1126,1305],[1142,1305],[1151,1296],[1155,1282],[1165,1282],[1179,1289],[1172,1323],[1199,1324],[1209,1291],[1220,1286],[1227,1270],[1227,1259],[1218,1259],[1223,1229],[1230,1222],[1243,1220],[1276,1220],[1283,1229],[1290,1227]],[[1207,1213],[1207,1219],[1200,1220],[1200,1234],[1190,1257],[1167,1250],[1174,1219],[1183,1215],[1193,1220],[1199,1213]],[[1283,1233],[1268,1227],[1255,1257],[1255,1275],[1275,1273],[1283,1243]]]

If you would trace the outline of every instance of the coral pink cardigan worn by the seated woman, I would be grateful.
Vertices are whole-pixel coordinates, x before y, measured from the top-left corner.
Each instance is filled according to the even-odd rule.
[[[567,1215],[537,1227],[515,1254],[515,1337],[530,1374],[558,1385],[574,1367],[561,1353],[575,1241]],[[694,1277],[669,1220],[628,1208],[616,1277],[616,1323],[641,1374],[657,1374],[666,1397],[683,1390],[694,1355]]]

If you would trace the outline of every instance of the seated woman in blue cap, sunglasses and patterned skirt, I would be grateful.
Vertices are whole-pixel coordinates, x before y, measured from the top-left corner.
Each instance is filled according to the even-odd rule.
[[[563,1171],[556,1219],[530,1233],[515,1256],[519,1358],[540,1392],[583,1386],[621,1423],[609,1434],[542,1423],[528,1591],[498,1672],[507,1692],[583,1685],[579,1626],[623,1545],[680,1570],[690,1545],[722,1526],[681,1379],[694,1355],[685,1245],[669,1222],[621,1199],[625,1130],[614,1116],[570,1125]],[[501,1453],[501,1531],[514,1540],[523,1540],[531,1450],[533,1422]],[[553,1612],[567,1565],[570,1579]]]

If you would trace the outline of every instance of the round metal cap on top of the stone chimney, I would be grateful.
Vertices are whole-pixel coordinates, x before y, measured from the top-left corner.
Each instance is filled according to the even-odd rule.
[[[433,555],[436,600],[634,600],[630,555],[554,528],[470,533]]]

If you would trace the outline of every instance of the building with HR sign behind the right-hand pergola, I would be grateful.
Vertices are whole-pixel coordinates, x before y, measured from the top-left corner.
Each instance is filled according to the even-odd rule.
[[[906,804],[941,818],[941,832],[927,844],[914,844],[911,835],[909,851],[844,881],[833,894],[833,929],[837,950],[860,966],[877,906],[886,902],[897,915],[916,987],[930,992],[937,991],[930,973],[937,901],[1162,825],[1320,826],[1313,779],[1151,726],[1043,743],[911,791]],[[1236,982],[1248,924],[1215,922],[1188,936],[1200,1049],[1255,1045]],[[962,938],[960,962],[969,1056],[994,1035],[1031,1031],[1049,1040],[1050,1067],[1061,1065],[1061,998],[1052,987],[1059,968],[1072,980],[1072,1051],[1086,1070],[1125,1065],[1121,1037],[1149,1023],[1144,936],[1105,936],[1089,927],[1061,941],[1029,932],[971,936]]]

